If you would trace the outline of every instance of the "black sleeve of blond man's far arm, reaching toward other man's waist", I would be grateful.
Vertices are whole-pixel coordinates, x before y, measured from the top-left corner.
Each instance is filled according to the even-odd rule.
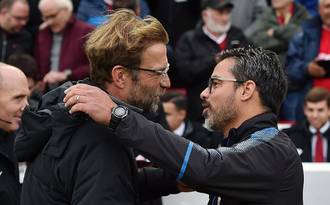
[[[175,180],[175,177],[162,169],[154,167],[142,168],[139,172],[140,202],[153,200],[171,193],[179,193]]]

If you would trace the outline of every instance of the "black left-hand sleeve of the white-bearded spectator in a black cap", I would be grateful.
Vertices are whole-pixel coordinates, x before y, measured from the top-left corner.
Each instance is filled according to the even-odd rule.
[[[205,80],[210,77],[214,67],[217,65],[214,56],[216,53],[212,53],[210,45],[204,45],[205,52],[199,51],[195,53],[197,45],[192,43],[191,33],[185,33],[177,41],[175,46],[175,64],[177,66],[177,72],[179,76],[186,84],[195,84],[199,80]],[[195,42],[196,44],[199,41]],[[219,49],[220,50],[220,49]]]

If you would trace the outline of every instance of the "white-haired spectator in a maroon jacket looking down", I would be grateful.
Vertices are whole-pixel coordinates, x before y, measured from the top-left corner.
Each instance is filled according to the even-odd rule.
[[[67,80],[88,77],[84,45],[94,27],[76,19],[70,0],[41,0],[39,9],[47,27],[36,39],[34,57],[43,85],[52,90]]]

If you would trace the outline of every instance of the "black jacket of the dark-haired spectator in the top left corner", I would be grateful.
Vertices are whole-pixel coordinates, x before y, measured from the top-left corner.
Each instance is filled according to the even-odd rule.
[[[10,55],[18,51],[32,55],[33,40],[31,34],[23,29],[19,34],[6,35],[0,28],[0,60],[6,62]]]

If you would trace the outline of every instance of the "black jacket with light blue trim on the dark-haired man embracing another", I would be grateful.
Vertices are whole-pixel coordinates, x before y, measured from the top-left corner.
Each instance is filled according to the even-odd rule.
[[[218,149],[203,149],[133,111],[115,135],[196,191],[212,195],[209,204],[217,204],[213,196],[221,197],[221,205],[303,204],[303,165],[270,112],[232,128],[226,147]]]

